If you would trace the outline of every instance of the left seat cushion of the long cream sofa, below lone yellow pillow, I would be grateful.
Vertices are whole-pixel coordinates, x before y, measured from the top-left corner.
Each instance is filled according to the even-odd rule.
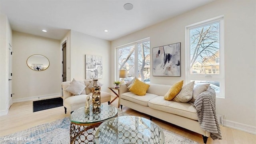
[[[121,95],[122,99],[134,102],[136,104],[140,104],[142,106],[148,106],[148,101],[156,97],[158,97],[158,95],[146,93],[145,96],[138,96],[132,92],[126,92]]]

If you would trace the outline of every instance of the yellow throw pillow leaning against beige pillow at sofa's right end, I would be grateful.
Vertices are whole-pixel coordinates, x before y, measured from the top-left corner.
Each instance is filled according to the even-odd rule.
[[[164,95],[164,100],[172,100],[181,90],[183,86],[183,80],[176,82]]]

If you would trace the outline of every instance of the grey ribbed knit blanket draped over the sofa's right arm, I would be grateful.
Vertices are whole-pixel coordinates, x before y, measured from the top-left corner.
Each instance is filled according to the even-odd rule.
[[[210,136],[213,140],[222,139],[215,101],[216,93],[209,87],[208,90],[199,94],[194,102],[198,122],[203,130],[211,133]]]

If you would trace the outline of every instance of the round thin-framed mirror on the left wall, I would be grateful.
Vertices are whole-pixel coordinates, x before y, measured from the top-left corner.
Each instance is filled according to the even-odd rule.
[[[28,57],[27,65],[32,70],[42,71],[42,70],[46,70],[49,67],[50,62],[48,58],[46,58],[45,56],[41,54],[34,54]]]

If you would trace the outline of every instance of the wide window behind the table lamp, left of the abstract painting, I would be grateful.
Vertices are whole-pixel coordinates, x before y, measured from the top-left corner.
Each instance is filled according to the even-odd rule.
[[[150,41],[141,40],[117,48],[117,62],[119,76],[120,70],[127,70],[127,78],[123,80],[128,82],[134,77],[139,80],[150,83]],[[122,81],[122,78],[117,78]]]

